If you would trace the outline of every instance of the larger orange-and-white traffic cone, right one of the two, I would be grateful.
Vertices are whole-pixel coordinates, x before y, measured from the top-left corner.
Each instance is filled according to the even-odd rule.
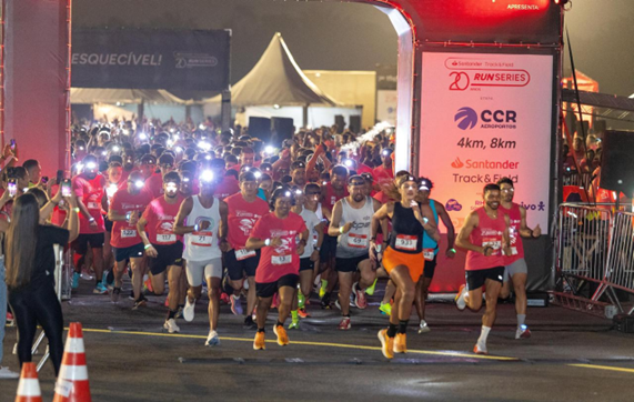
[[[72,322],[66,340],[53,402],[90,402],[90,384],[81,323]]]

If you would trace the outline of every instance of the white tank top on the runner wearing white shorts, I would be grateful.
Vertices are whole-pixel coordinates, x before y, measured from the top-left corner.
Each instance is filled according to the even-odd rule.
[[[201,205],[198,195],[192,195],[193,208],[191,213],[185,218],[185,224],[193,227],[194,224],[201,225],[202,222],[208,221],[209,228],[204,231],[187,233],[184,235],[185,250],[183,251],[183,259],[190,261],[204,261],[211,259],[219,259],[222,257],[220,247],[218,245],[218,229],[220,225],[220,200],[213,198],[211,208]]]

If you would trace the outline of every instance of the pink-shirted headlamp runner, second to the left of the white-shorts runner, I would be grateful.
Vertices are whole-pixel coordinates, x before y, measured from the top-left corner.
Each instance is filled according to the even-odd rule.
[[[128,177],[128,185],[118,190],[110,202],[108,219],[112,221],[112,237],[110,244],[114,252],[117,270],[114,272],[114,288],[112,289],[112,302],[118,302],[121,295],[123,273],[130,261],[132,269],[132,291],[137,310],[145,305],[148,300],[142,293],[143,272],[143,241],[139,237],[137,222],[145,207],[152,201],[152,195],[143,190],[143,174],[133,171]]]

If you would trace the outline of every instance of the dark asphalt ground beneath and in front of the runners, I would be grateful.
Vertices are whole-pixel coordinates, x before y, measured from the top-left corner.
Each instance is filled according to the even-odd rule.
[[[178,321],[181,333],[163,331],[164,297],[149,297],[147,308],[132,301],[112,304],[90,293],[82,281],[64,302],[64,320],[84,328],[93,401],[632,401],[634,336],[611,330],[608,320],[557,306],[530,308],[533,336],[515,340],[511,304],[499,308],[489,336],[489,356],[471,351],[480,333],[481,313],[461,312],[451,303],[431,303],[432,329],[417,334],[413,312],[406,354],[383,358],[376,332],[386,326],[380,314],[381,291],[371,305],[352,309],[352,329],[339,331],[339,310],[321,310],[289,331],[291,344],[279,346],[271,311],[266,350],[252,348],[254,330],[243,318],[221,308],[221,345],[205,348],[207,299],[195,319]],[[290,319],[289,321],[290,322]],[[3,365],[17,370],[11,354],[16,329],[7,328]],[[43,346],[40,348],[40,352]],[[34,360],[39,360],[36,355]],[[12,401],[17,380],[0,381],[0,400]],[[50,363],[40,372],[43,400],[54,386]]]

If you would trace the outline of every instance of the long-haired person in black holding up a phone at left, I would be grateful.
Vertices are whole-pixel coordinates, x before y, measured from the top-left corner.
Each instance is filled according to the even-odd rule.
[[[31,346],[37,325],[40,324],[49,340],[56,375],[59,374],[63,354],[63,315],[53,283],[53,244],[63,247],[79,233],[74,197],[63,199],[72,208],[69,230],[42,224],[61,200],[61,191],[58,191],[56,197],[40,209],[36,195],[19,195],[13,205],[11,222],[0,224],[0,231],[7,232],[7,287],[9,303],[18,324],[20,364],[32,360]]]

